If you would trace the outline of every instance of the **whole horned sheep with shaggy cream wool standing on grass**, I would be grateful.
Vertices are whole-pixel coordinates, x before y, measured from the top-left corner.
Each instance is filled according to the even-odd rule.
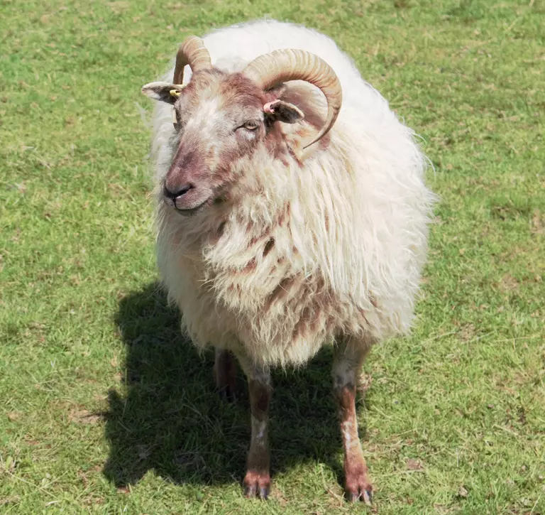
[[[331,38],[275,20],[187,38],[142,91],[163,284],[221,395],[248,379],[244,494],[270,491],[270,369],[332,345],[346,495],[370,504],[356,384],[412,325],[434,205],[414,132]]]

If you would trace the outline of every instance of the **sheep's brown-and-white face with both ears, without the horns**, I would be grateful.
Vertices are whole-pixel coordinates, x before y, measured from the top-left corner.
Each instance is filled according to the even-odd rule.
[[[240,73],[195,72],[185,87],[153,82],[143,92],[174,108],[177,149],[163,197],[182,214],[226,194],[236,182],[236,163],[277,141],[276,121],[294,123],[303,117],[297,107],[278,98],[281,87],[263,92]]]

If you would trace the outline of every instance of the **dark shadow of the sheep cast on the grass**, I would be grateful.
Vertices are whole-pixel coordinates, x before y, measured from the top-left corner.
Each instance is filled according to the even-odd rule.
[[[180,333],[180,315],[158,283],[119,303],[125,374],[109,391],[104,475],[117,487],[148,470],[177,484],[241,482],[250,443],[246,380],[237,403],[219,399],[213,351],[199,355]],[[308,367],[276,371],[270,409],[271,472],[320,461],[342,479],[341,437],[331,394],[331,349]],[[365,428],[360,428],[365,436]]]

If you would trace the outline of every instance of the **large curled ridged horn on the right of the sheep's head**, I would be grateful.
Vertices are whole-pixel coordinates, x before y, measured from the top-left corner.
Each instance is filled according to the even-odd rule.
[[[260,55],[243,70],[263,90],[287,80],[305,80],[318,87],[327,100],[327,118],[318,135],[304,148],[323,138],[335,123],[343,92],[334,70],[323,59],[304,50],[274,50]]]

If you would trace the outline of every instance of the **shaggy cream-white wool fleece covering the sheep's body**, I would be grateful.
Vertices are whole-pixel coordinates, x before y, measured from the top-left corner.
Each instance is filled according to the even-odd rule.
[[[406,333],[434,204],[413,131],[321,33],[264,20],[203,40],[212,64],[225,72],[280,48],[319,55],[341,82],[343,104],[328,136],[303,150],[326,103],[316,87],[288,82],[282,99],[305,118],[280,124],[292,149],[287,158],[260,146],[233,166],[228,200],[184,217],[162,199],[178,136],[172,107],[158,103],[158,266],[187,334],[199,347],[286,366],[304,364],[339,337],[369,342]],[[163,80],[172,82],[173,70]]]

